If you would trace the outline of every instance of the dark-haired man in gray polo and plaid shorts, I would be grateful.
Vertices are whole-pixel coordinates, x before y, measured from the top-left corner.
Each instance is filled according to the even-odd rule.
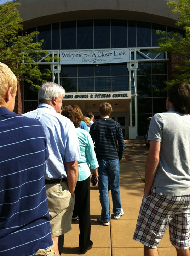
[[[178,256],[190,256],[190,85],[168,90],[167,112],[150,121],[150,148],[145,188],[133,239],[145,256],[158,256],[157,246],[169,226]]]

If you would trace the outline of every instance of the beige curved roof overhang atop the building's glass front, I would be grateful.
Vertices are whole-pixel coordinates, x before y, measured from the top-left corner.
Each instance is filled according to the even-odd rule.
[[[85,19],[127,19],[175,26],[166,0],[17,0],[24,29],[49,23]],[[47,3],[48,2],[48,3]]]

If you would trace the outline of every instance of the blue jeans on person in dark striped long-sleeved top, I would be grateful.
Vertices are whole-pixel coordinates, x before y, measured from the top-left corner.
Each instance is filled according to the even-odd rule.
[[[111,219],[111,214],[109,212],[108,184],[110,184],[111,189],[113,213],[121,213],[119,159],[98,160],[98,164],[98,189],[102,206],[101,219],[103,221],[108,221]]]

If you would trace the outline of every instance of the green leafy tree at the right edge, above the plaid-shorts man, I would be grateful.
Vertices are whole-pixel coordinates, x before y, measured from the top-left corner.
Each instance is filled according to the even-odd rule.
[[[157,34],[162,35],[158,40],[160,52],[173,53],[173,59],[182,59],[181,64],[175,66],[172,80],[167,81],[170,86],[175,82],[190,82],[190,0],[170,1],[167,5],[173,8],[174,14],[179,15],[176,25],[184,30],[184,35],[157,31]]]

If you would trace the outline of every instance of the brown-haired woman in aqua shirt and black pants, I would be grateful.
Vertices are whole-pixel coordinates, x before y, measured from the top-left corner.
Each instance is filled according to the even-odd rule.
[[[96,186],[98,184],[98,161],[90,134],[86,130],[80,129],[80,122],[83,118],[80,107],[77,105],[65,106],[62,115],[73,122],[80,145],[81,158],[78,160],[79,177],[75,187],[75,206],[79,217],[79,249],[81,254],[85,254],[93,244],[90,240],[90,169],[93,172],[91,182],[93,186]]]

